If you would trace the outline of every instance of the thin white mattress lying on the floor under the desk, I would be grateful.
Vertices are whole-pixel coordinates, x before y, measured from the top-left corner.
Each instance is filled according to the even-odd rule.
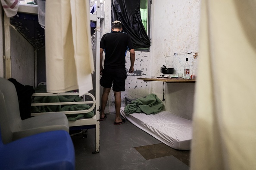
[[[172,113],[161,111],[155,115],[132,113],[121,115],[135,126],[152,135],[162,143],[179,150],[189,150],[192,140],[192,121]]]

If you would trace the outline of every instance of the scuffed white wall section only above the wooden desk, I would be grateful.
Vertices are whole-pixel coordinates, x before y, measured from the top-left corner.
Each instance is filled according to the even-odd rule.
[[[162,65],[174,68],[174,74],[183,73],[185,59],[189,58],[192,67],[194,52],[198,52],[200,3],[197,0],[163,0],[153,2],[153,12],[158,15],[153,15],[151,75],[158,76]],[[159,25],[162,25],[161,31]]]

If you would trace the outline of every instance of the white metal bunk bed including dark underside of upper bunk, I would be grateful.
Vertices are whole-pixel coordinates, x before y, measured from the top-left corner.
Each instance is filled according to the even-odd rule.
[[[95,151],[93,153],[99,153],[100,147],[100,113],[99,113],[99,102],[100,102],[100,87],[99,87],[99,77],[100,73],[96,66],[100,65],[99,61],[99,49],[100,49],[100,0],[91,0],[91,9],[90,9],[90,20],[94,23],[95,32],[93,37],[94,41],[94,65],[95,65],[95,73],[93,74],[94,82],[94,90],[89,91],[84,94],[83,101],[79,102],[64,102],[64,103],[32,103],[31,106],[53,106],[53,105],[68,105],[68,104],[88,104],[90,105],[89,109],[83,110],[75,110],[75,111],[66,111],[65,114],[87,114],[88,112],[94,112],[95,114],[91,118],[81,117],[75,121],[69,121],[70,130],[78,130],[78,129],[88,129],[95,128]],[[89,3],[89,2],[88,2]],[[98,10],[97,10],[98,9]],[[28,40],[29,43],[37,48],[44,48],[44,28],[38,23],[38,8],[37,5],[28,5],[28,4],[19,4],[18,13],[16,16],[8,18],[4,15],[4,25],[5,25],[5,73],[6,78],[11,78],[11,56],[10,56],[10,32],[9,27],[14,27],[25,39]],[[96,31],[97,30],[97,31]],[[35,57],[36,58],[36,57]],[[36,60],[35,60],[36,65]],[[35,66],[36,67],[36,66]],[[35,69],[36,72],[37,69]],[[35,73],[37,75],[37,73]],[[35,76],[34,86],[37,86],[37,79]],[[78,92],[69,92],[69,93],[35,93],[34,97],[38,96],[78,96]],[[35,112],[31,113],[31,116],[41,115],[41,114],[51,114],[53,112]]]

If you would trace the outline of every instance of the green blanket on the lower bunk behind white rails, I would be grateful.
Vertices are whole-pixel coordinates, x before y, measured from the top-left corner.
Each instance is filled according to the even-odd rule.
[[[36,93],[46,93],[46,85],[39,85],[35,88]],[[77,95],[72,96],[36,96],[32,103],[56,103],[56,102],[78,102],[82,101]],[[64,112],[64,111],[77,111],[87,110],[91,106],[87,104],[75,104],[75,105],[52,105],[52,106],[31,106],[31,113],[40,112]],[[76,121],[78,118],[92,118],[94,111],[82,114],[68,114],[66,115],[69,121]]]

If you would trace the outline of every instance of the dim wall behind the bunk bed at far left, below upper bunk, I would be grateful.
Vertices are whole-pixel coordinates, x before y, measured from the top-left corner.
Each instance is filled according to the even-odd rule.
[[[0,77],[4,76],[3,9],[0,8]],[[10,27],[11,74],[23,85],[34,85],[34,48],[15,29]]]

